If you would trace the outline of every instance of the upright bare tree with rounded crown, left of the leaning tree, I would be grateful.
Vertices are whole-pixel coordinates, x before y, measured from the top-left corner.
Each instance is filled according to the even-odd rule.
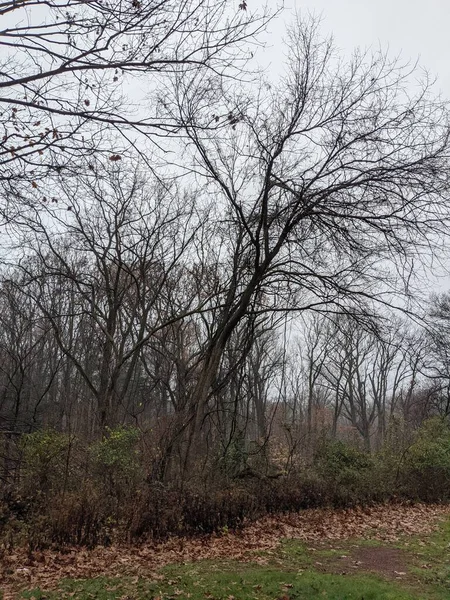
[[[198,224],[192,199],[122,170],[62,189],[63,206],[30,210],[20,290],[96,399],[104,430],[126,408],[144,345],[192,310],[195,296],[185,294],[181,307],[168,296]]]

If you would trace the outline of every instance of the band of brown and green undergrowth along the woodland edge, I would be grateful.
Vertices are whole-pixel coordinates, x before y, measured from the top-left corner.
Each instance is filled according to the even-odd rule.
[[[3,547],[223,532],[267,513],[399,496],[450,500],[450,427],[442,419],[426,422],[407,450],[388,441],[370,455],[325,440],[312,465],[289,475],[271,474],[241,444],[231,445],[219,464],[211,460],[205,478],[182,486],[146,480],[139,443],[139,431],[130,427],[110,430],[89,448],[53,430],[24,435],[21,479],[0,499]]]

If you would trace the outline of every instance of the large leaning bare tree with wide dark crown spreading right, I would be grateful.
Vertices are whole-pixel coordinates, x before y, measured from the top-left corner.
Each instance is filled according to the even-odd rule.
[[[416,71],[386,55],[339,60],[314,21],[291,31],[287,63],[279,82],[245,97],[183,74],[173,102],[164,99],[230,231],[196,429],[247,315],[313,308],[364,318],[373,302],[407,291],[414,259],[448,223],[448,109],[426,77],[410,92]]]

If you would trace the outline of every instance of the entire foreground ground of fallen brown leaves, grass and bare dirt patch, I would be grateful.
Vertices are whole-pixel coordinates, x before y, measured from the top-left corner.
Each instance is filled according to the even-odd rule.
[[[5,553],[0,598],[448,600],[450,507],[270,516],[161,544]]]

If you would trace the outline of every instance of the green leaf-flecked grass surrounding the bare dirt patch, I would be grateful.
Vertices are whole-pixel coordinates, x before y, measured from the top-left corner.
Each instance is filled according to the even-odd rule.
[[[393,576],[342,574],[342,559],[368,548],[396,548],[408,573]],[[310,547],[284,540],[255,563],[200,561],[165,567],[156,576],[62,580],[56,590],[28,590],[34,600],[448,600],[450,598],[450,520],[426,537],[396,544],[348,540]],[[258,564],[256,563],[258,561]],[[264,561],[265,564],[259,564]],[[1,594],[0,594],[1,597]]]

